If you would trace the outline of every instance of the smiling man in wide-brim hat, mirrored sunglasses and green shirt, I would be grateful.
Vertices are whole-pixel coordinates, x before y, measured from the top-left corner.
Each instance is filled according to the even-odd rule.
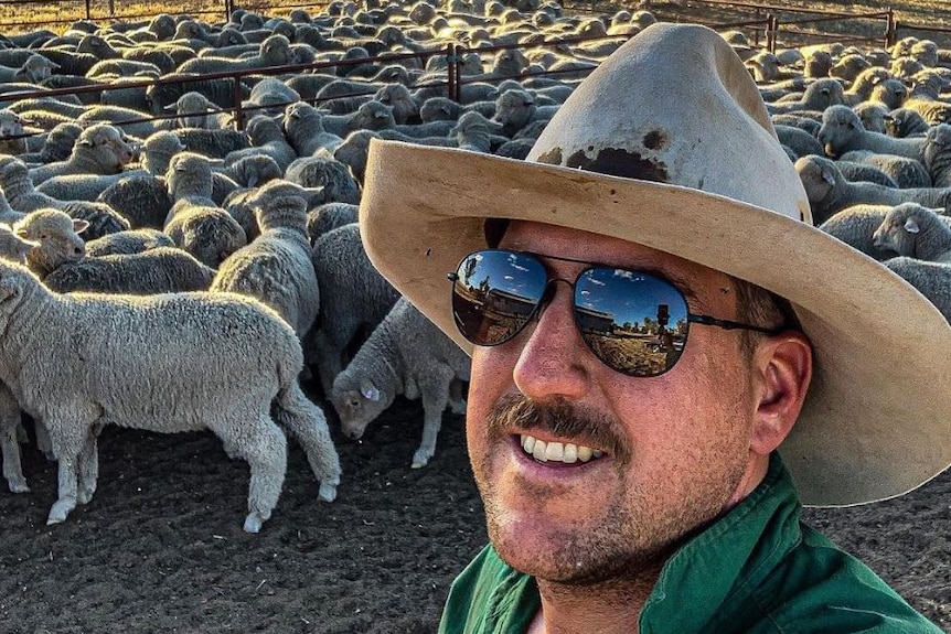
[[[951,327],[811,226],[715,32],[648,28],[527,162],[375,143],[361,232],[472,353],[440,632],[938,631],[799,515],[951,463]]]

